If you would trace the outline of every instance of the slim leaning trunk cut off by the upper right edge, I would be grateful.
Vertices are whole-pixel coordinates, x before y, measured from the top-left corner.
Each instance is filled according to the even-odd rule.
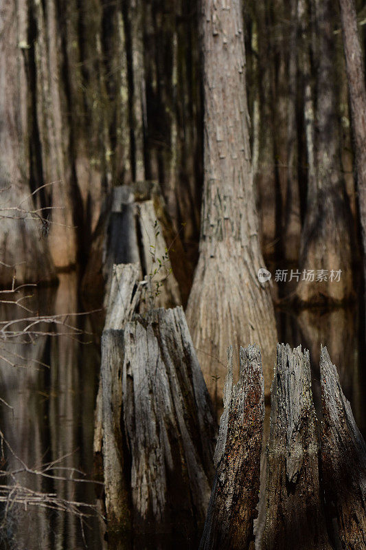
[[[358,210],[360,215],[364,278],[366,277],[366,87],[365,65],[358,36],[353,0],[340,0],[345,67],[350,93]]]

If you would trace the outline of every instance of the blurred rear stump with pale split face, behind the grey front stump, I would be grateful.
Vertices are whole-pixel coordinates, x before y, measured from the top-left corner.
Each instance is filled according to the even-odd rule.
[[[136,262],[141,265],[142,277],[152,278],[155,307],[187,301],[190,281],[183,246],[179,234],[174,234],[159,186],[149,182],[114,188],[95,231],[82,281],[87,301],[96,306],[95,299],[100,300],[105,284],[108,293],[114,264]]]

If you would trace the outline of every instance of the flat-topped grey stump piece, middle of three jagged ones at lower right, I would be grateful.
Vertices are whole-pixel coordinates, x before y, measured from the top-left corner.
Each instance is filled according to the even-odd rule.
[[[308,351],[277,344],[267,447],[263,550],[329,549]]]

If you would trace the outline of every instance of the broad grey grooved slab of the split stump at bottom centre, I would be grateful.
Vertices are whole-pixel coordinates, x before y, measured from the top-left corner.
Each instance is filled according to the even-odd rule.
[[[216,428],[183,309],[124,330],[123,425],[135,533],[194,533],[214,477]]]

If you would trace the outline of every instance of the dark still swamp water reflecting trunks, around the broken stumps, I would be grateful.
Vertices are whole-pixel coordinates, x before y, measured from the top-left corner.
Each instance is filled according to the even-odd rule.
[[[60,316],[82,311],[76,274],[60,276],[56,289],[26,289],[34,294],[23,302],[40,315]],[[1,321],[34,314],[14,305],[1,304]],[[365,360],[359,345],[358,307],[334,311],[277,311],[280,340],[295,347],[301,344],[310,350],[313,394],[319,407],[319,350],[326,344],[332,362],[339,369],[343,391],[352,404],[359,428],[365,436]],[[45,472],[60,478],[93,477],[93,410],[98,386],[100,353],[98,334],[93,334],[91,316],[69,316],[65,325],[46,323],[34,327],[32,341],[16,338],[1,340],[0,429],[12,448],[0,449],[0,470],[33,470],[57,461],[57,470]],[[1,325],[3,327],[3,325]],[[25,325],[18,325],[19,329]],[[8,329],[13,330],[11,326]],[[75,329],[82,331],[76,333]],[[14,366],[16,364],[16,366]],[[62,459],[63,457],[63,459]],[[61,459],[59,461],[59,459]],[[66,500],[95,504],[100,487],[93,483],[52,479],[20,472],[14,476],[19,485],[34,492],[57,494]],[[0,485],[8,483],[2,478]],[[45,507],[5,505],[1,507],[0,548],[19,550],[92,550],[106,549],[100,519],[86,518],[82,529],[73,514]],[[5,520],[4,515],[6,514]],[[136,545],[135,545],[136,547]],[[196,548],[196,542],[185,540],[139,541],[138,547],[174,549]]]

